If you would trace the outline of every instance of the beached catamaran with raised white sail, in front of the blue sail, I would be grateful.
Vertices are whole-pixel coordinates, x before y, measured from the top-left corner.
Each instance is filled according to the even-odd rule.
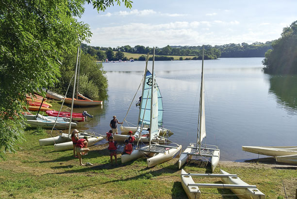
[[[142,132],[142,128],[144,125],[146,125],[146,121],[149,121],[149,139],[148,139],[148,146],[135,149],[132,151],[130,155],[122,155],[122,163],[127,160],[137,159],[141,157],[144,154],[153,153],[154,156],[147,159],[148,167],[156,166],[158,164],[161,164],[165,161],[168,161],[172,159],[175,154],[177,154],[181,150],[181,145],[178,145],[176,143],[171,143],[171,146],[169,145],[160,145],[160,144],[153,144],[153,139],[157,138],[160,133],[160,129],[158,127],[159,123],[159,111],[158,111],[158,86],[156,83],[156,77],[154,74],[154,57],[155,57],[155,49],[153,53],[153,65],[152,65],[152,76],[148,80],[147,85],[149,86],[148,89],[143,90],[143,99],[141,100],[141,103],[150,104],[150,112],[149,114],[146,113],[146,110],[144,111],[143,115],[141,115],[141,128],[140,132]],[[148,59],[148,58],[147,58]],[[148,63],[148,60],[147,60]],[[146,116],[149,115],[150,119],[146,120]],[[141,133],[139,134],[141,135]],[[138,142],[141,141],[142,136],[138,137]],[[176,146],[172,146],[176,145]]]

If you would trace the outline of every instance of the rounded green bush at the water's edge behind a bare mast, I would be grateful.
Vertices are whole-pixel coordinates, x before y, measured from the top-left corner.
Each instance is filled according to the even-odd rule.
[[[61,67],[61,78],[56,84],[55,90],[66,93],[68,84],[74,75],[77,53],[67,54]],[[81,54],[80,76],[78,76],[79,92],[87,98],[104,98],[107,94],[107,78],[101,63],[97,64],[95,58],[89,54]],[[76,85],[77,86],[77,85]],[[76,87],[77,89],[77,87]],[[72,97],[73,81],[70,84],[67,97]]]

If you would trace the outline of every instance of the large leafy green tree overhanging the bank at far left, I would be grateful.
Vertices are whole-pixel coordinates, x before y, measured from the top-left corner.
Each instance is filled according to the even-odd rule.
[[[54,86],[63,54],[82,41],[88,42],[89,27],[77,20],[84,12],[84,3],[104,11],[121,2],[132,6],[131,0],[0,2],[0,149],[15,150],[13,145],[21,136],[16,124],[22,119],[26,94]]]

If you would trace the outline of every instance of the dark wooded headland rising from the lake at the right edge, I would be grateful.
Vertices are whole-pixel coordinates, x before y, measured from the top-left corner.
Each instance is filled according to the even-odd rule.
[[[272,48],[265,53],[264,72],[297,74],[297,21],[283,29],[281,38],[272,43]]]

